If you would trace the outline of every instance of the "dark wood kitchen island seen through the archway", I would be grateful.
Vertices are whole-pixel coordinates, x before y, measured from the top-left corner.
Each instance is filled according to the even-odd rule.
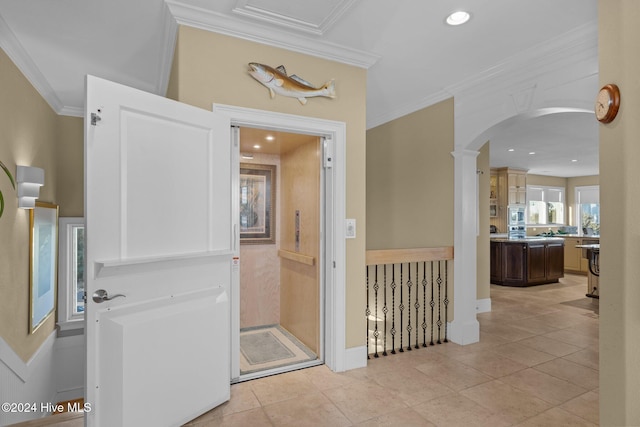
[[[559,237],[494,238],[490,242],[491,283],[534,286],[564,277],[564,239]]]

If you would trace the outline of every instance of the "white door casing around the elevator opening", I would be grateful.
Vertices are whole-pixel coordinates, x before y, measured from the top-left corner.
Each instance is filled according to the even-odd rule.
[[[320,354],[324,364],[335,372],[350,367],[360,367],[366,363],[366,353],[358,350],[347,351],[346,340],[346,242],[345,242],[345,202],[346,202],[346,123],[305,117],[292,114],[255,110],[231,105],[213,104],[213,111],[222,113],[231,119],[234,138],[233,164],[240,164],[239,128],[269,129],[301,135],[315,135],[322,138],[322,179],[321,193],[324,200],[322,211],[323,238],[319,262],[321,291],[320,312]],[[234,168],[235,169],[235,168]],[[235,169],[239,172],[239,167]],[[239,176],[233,178],[233,188],[239,188]],[[240,379],[240,244],[239,207],[240,192],[233,191],[236,197],[232,208],[236,209],[232,217],[234,268],[231,287],[231,382]],[[237,331],[235,333],[234,331]],[[317,363],[317,362],[316,362]],[[275,373],[275,372],[274,372]],[[265,373],[269,375],[270,373]]]

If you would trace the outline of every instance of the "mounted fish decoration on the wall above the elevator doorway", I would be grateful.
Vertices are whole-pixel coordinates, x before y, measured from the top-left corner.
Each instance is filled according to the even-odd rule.
[[[277,93],[282,96],[296,98],[304,105],[307,103],[307,98],[312,96],[336,97],[333,80],[328,81],[321,87],[315,87],[295,74],[288,76],[287,70],[283,65],[278,68],[271,68],[268,65],[251,62],[249,63],[249,74],[269,89],[271,98],[274,98]]]

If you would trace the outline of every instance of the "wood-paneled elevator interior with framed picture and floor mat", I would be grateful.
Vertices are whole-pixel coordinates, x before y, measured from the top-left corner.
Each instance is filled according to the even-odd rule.
[[[239,380],[323,363],[318,135],[241,127]]]

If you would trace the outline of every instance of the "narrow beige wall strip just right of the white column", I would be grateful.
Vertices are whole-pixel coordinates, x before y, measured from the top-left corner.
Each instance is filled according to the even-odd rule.
[[[478,175],[479,192],[478,192],[478,247],[477,247],[477,276],[476,287],[479,300],[491,298],[490,289],[490,253],[489,253],[489,179],[491,177],[490,168],[490,143],[484,144],[480,148],[480,154],[476,163],[478,170],[482,171]]]

